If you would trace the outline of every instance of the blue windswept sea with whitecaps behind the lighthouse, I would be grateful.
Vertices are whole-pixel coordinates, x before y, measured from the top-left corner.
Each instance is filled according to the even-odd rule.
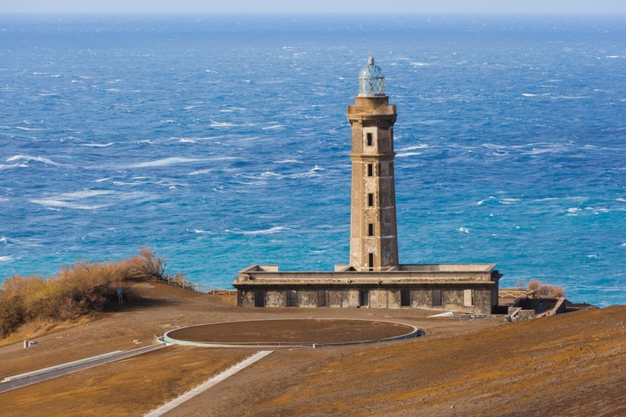
[[[401,263],[626,303],[626,16],[0,15],[0,280],[141,246],[225,288],[346,263],[370,51]]]

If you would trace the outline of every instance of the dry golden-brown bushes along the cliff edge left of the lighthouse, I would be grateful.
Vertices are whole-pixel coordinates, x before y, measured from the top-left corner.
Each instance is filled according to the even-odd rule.
[[[150,249],[117,262],[78,262],[55,277],[15,275],[0,286],[0,337],[33,320],[72,320],[99,311],[128,292],[127,281],[163,276],[165,263]]]

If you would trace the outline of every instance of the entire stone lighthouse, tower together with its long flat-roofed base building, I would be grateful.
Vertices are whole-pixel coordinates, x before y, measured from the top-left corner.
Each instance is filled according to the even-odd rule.
[[[239,306],[415,307],[491,313],[495,263],[400,264],[396,232],[394,123],[383,70],[370,57],[348,106],[352,126],[350,259],[332,272],[281,272],[252,265],[233,282]]]

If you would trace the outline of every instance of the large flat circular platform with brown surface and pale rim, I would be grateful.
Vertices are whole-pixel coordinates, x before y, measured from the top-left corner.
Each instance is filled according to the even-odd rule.
[[[164,334],[163,341],[207,347],[313,347],[397,341],[423,334],[415,326],[397,322],[294,318],[182,327]]]

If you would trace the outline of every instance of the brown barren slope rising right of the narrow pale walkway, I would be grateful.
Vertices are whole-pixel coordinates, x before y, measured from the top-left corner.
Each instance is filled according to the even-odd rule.
[[[626,306],[615,306],[374,347],[282,352],[171,415],[624,416],[625,343]]]

